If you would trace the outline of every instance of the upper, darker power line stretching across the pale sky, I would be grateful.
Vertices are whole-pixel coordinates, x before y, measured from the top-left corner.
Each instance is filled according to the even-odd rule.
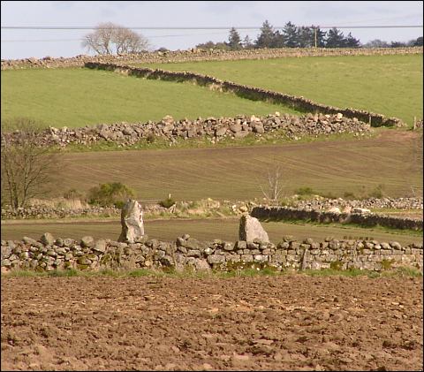
[[[313,26],[311,26],[313,27]],[[314,26],[319,28],[422,28],[422,25],[391,25],[391,26]],[[7,30],[95,30],[110,27],[79,27],[79,26],[2,26]],[[133,30],[230,30],[231,27],[125,27]],[[261,27],[234,27],[238,30],[259,30]],[[273,28],[284,28],[274,26]]]

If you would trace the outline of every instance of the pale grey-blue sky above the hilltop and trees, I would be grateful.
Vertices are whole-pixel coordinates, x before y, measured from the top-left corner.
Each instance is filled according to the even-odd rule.
[[[228,41],[236,27],[254,40],[265,20],[280,29],[296,26],[421,26],[422,1],[2,1],[1,57],[73,57],[92,54],[81,46],[85,34],[102,22],[134,30],[150,49],[190,49],[201,42]],[[3,27],[92,27],[86,30],[27,30]],[[180,29],[172,29],[179,27]],[[228,27],[193,30],[184,27]],[[242,27],[257,27],[245,29]],[[324,29],[324,31],[327,31]],[[380,39],[407,42],[422,36],[419,28],[343,28],[366,43]]]

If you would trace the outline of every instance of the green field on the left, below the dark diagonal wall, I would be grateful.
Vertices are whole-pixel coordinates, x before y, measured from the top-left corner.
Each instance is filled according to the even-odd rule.
[[[88,69],[2,71],[2,121],[29,117],[46,126],[234,117],[238,114],[296,113],[288,107],[254,102],[208,87],[126,77]]]

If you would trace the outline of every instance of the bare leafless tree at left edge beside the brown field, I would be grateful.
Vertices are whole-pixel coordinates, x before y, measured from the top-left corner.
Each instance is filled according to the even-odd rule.
[[[57,175],[59,157],[52,148],[37,143],[40,126],[32,119],[14,121],[17,136],[2,132],[2,203],[13,209],[24,207],[34,196],[45,194]]]

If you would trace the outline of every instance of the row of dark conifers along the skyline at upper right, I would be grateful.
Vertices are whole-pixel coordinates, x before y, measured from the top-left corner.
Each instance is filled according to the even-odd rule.
[[[242,40],[239,32],[232,27],[228,42],[205,42],[196,45],[201,49],[254,49],[254,48],[399,48],[408,46],[422,46],[422,36],[410,42],[382,42],[375,39],[362,45],[359,39],[351,33],[345,34],[336,27],[324,32],[318,26],[297,27],[287,22],[283,29],[276,30],[268,20],[263,22],[260,34],[256,40],[248,35]]]

